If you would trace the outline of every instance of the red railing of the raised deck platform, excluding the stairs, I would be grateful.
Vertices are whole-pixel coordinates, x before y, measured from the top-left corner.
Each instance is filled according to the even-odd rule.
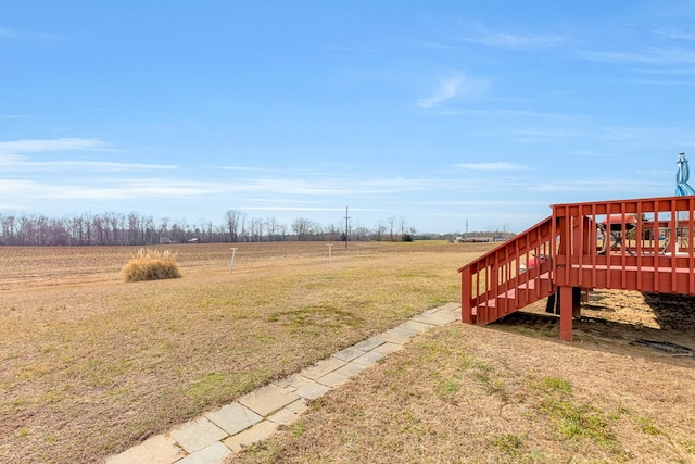
[[[556,285],[695,293],[695,197],[552,208]]]

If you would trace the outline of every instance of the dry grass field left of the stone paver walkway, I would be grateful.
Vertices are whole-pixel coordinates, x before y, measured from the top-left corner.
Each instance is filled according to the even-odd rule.
[[[0,462],[100,462],[456,301],[448,243],[166,247],[182,278],[124,283],[137,249],[0,248]]]

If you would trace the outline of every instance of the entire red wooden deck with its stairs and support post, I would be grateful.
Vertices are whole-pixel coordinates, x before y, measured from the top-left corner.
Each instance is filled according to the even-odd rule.
[[[552,209],[546,220],[458,269],[464,323],[489,324],[557,294],[560,339],[571,341],[581,311],[577,289],[695,294],[695,197]]]

